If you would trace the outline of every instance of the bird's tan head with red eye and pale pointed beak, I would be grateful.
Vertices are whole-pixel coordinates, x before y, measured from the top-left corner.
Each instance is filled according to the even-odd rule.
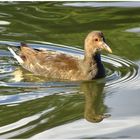
[[[87,54],[95,54],[101,50],[112,53],[111,48],[106,44],[101,31],[90,32],[85,39],[85,51]]]

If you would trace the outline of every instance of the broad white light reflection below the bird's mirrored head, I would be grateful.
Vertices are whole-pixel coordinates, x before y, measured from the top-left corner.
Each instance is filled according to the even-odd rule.
[[[140,124],[139,117],[126,117],[114,120],[104,120],[98,124],[89,123],[83,119],[57,126],[33,136],[39,138],[86,138],[103,136],[119,132]]]

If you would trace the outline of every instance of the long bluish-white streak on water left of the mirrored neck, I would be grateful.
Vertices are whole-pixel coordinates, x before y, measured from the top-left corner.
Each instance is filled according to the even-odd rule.
[[[0,105],[11,105],[23,103],[39,98],[43,98],[46,96],[54,95],[54,94],[73,94],[76,93],[76,90],[72,90],[72,88],[47,88],[47,89],[39,89],[33,92],[25,92],[14,95],[1,95],[0,96]]]

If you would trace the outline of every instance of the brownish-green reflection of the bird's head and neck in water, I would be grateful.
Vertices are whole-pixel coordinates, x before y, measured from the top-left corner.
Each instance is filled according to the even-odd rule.
[[[104,118],[109,117],[107,106],[104,105],[104,80],[84,82],[81,90],[85,94],[85,111],[84,117],[89,122],[101,122]]]

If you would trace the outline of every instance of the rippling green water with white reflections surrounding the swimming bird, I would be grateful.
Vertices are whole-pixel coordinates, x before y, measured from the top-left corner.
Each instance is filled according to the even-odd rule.
[[[140,138],[139,10],[140,2],[1,2],[0,138]],[[102,55],[104,79],[46,81],[7,49],[25,41],[82,58],[91,30],[113,50]]]

